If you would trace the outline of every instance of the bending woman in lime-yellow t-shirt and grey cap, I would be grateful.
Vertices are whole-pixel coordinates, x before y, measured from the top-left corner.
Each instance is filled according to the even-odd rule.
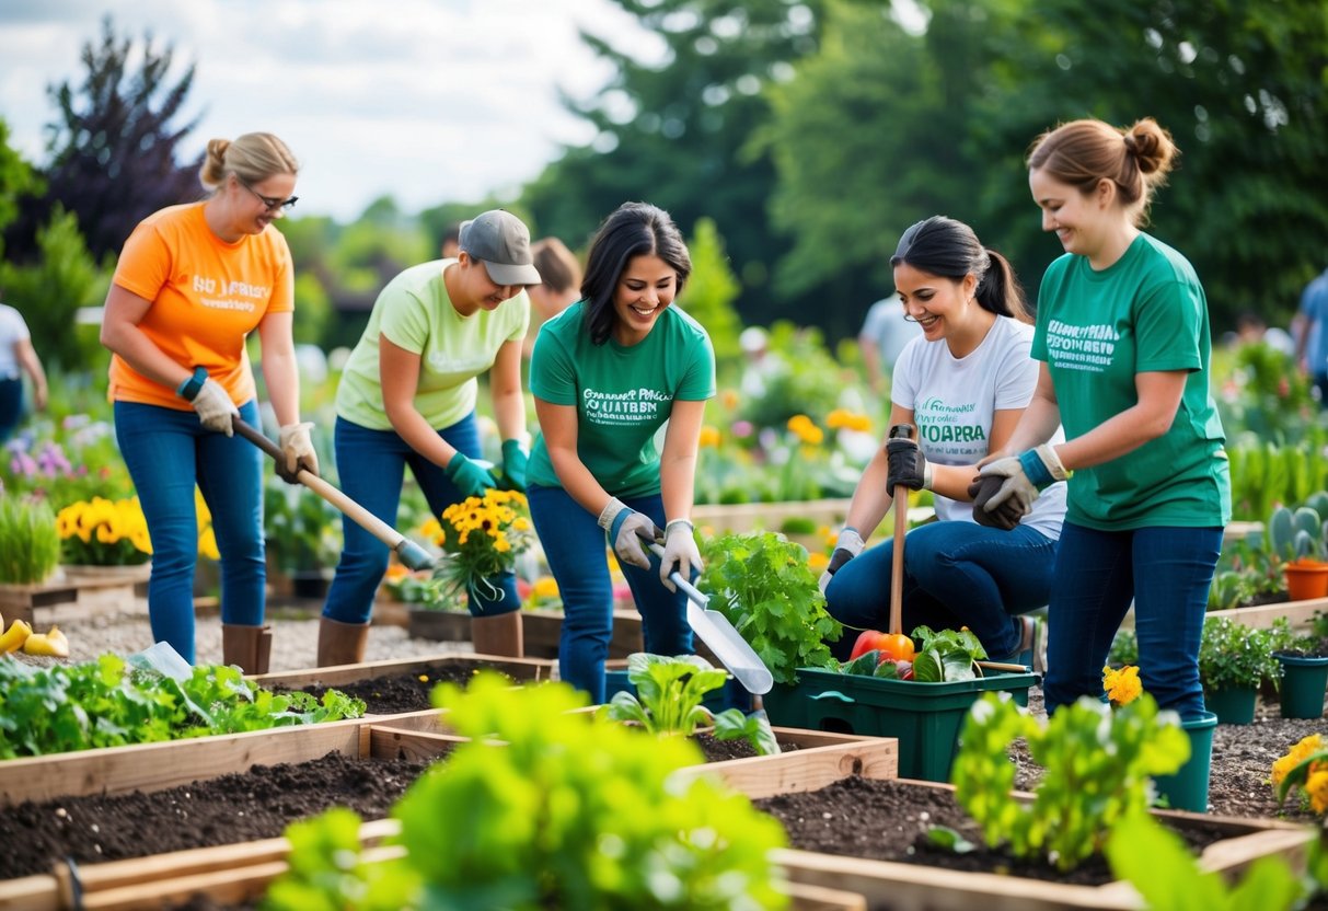
[[[461,226],[456,259],[412,266],[378,293],[336,392],[341,489],[388,525],[397,521],[405,470],[437,517],[499,479],[479,461],[478,377],[487,374],[502,436],[502,481],[526,489],[526,398],[521,345],[530,321],[526,288],[539,284],[530,232],[501,208]],[[364,660],[373,598],[388,546],[349,518],[345,546],[319,627],[319,667]],[[471,644],[521,657],[521,596],[502,583],[502,610],[477,615]]]

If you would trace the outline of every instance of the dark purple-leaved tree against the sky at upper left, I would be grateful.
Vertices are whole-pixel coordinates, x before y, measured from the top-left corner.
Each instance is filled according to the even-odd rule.
[[[86,74],[77,89],[68,81],[48,89],[58,120],[48,125],[52,159],[37,211],[61,205],[76,214],[88,250],[101,259],[118,254],[146,215],[201,195],[202,157],[177,165],[179,142],[198,121],[171,125],[189,96],[194,65],[171,84],[173,46],[158,49],[147,32],[135,48],[116,37],[109,16],[101,41],[85,44],[81,60]]]

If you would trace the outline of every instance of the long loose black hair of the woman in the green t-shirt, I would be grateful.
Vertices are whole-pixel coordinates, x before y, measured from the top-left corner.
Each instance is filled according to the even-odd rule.
[[[608,341],[618,324],[614,292],[623,270],[633,256],[651,254],[677,272],[676,293],[681,293],[687,276],[692,274],[692,256],[683,243],[681,231],[663,208],[645,202],[624,202],[595,232],[586,256],[582,299],[586,301],[590,340],[596,345]]]

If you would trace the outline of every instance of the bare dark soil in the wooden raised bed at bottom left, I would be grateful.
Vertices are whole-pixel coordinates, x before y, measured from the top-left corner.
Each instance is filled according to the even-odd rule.
[[[25,801],[0,810],[0,879],[50,872],[65,858],[84,865],[275,838],[332,806],[382,818],[428,765],[329,753],[150,794]]]

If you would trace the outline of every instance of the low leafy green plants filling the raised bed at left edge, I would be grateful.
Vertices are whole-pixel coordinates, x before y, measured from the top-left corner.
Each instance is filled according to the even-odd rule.
[[[0,758],[359,718],[364,703],[331,689],[276,695],[239,668],[199,665],[186,680],[96,661],[39,668],[0,661]]]

